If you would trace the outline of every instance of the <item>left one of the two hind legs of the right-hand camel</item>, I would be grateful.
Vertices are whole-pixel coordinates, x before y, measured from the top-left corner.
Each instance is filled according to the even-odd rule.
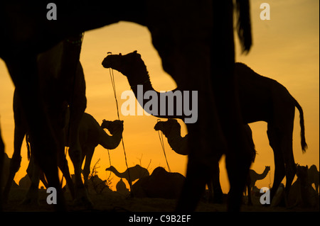
[[[285,176],[285,167],[284,167],[284,159],[282,156],[280,141],[279,141],[279,132],[272,125],[268,124],[267,135],[269,139],[269,144],[273,149],[274,153],[274,180],[273,185],[270,191],[270,198],[274,197],[277,189],[284,179]]]

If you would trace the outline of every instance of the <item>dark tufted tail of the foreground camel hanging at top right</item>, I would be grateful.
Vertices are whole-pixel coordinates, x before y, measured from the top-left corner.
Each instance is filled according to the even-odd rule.
[[[237,0],[235,13],[237,18],[237,30],[242,46],[242,52],[247,54],[252,45],[250,2],[249,0]]]

